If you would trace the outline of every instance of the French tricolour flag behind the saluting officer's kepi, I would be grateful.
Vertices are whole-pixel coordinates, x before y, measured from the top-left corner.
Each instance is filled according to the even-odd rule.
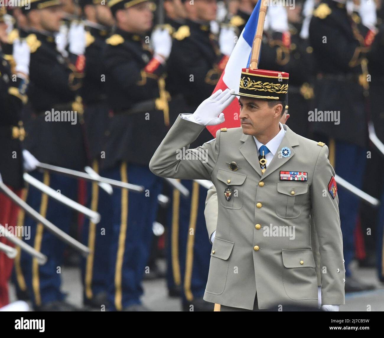
[[[221,74],[221,77],[218,80],[213,92],[217,91],[218,89],[222,89],[224,91],[227,88],[235,89],[237,91],[240,84],[240,74],[242,68],[249,68],[252,43],[253,38],[255,37],[257,21],[259,18],[260,4],[261,1],[258,1],[240,35],[240,38],[236,43],[235,48],[233,48],[232,54],[228,59],[228,63],[225,66],[225,69]],[[223,113],[225,116],[225,122],[218,125],[207,126],[207,129],[214,136],[216,136],[216,132],[220,128],[240,127],[240,120],[238,119],[238,99],[234,99],[232,103],[223,111]],[[235,113],[237,113],[236,117]]]

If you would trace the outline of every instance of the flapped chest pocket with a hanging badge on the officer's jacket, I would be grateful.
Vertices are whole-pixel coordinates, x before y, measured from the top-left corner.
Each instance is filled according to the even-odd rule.
[[[216,189],[220,204],[227,209],[241,209],[243,207],[243,183],[247,175],[219,169],[216,178],[219,181]],[[226,189],[230,189],[231,193],[228,201],[224,195]]]

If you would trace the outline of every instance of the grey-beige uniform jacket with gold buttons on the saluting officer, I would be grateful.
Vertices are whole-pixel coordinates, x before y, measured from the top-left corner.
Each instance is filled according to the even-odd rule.
[[[208,302],[252,310],[257,295],[260,309],[288,303],[316,307],[312,215],[322,304],[345,303],[343,240],[338,196],[328,187],[334,176],[328,147],[283,127],[278,149],[287,147],[291,154],[283,157],[278,150],[263,175],[255,140],[242,128],[218,130],[214,140],[188,149],[205,127],[180,116],[149,163],[156,175],[211,180],[216,187],[217,228],[204,294]],[[237,171],[228,167],[232,161]],[[280,180],[280,171],[306,172],[307,181]]]

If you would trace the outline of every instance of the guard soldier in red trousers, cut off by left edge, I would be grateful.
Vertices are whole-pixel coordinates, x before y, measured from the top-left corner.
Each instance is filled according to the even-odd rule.
[[[25,166],[28,168],[28,152],[22,153],[21,141],[25,131],[21,119],[21,109],[27,101],[29,48],[25,41],[16,39],[12,54],[3,54],[2,47],[10,43],[7,39],[7,24],[4,22],[6,8],[0,6],[0,175],[1,180],[18,196],[22,193],[23,183],[23,155],[27,158]],[[11,67],[11,63],[13,67]],[[16,75],[16,76],[15,76]],[[30,155],[31,156],[31,155]],[[0,193],[0,224],[5,228],[15,227],[17,224],[18,208],[3,193]],[[12,246],[3,236],[0,242]],[[10,278],[13,260],[4,252],[0,252],[0,308],[9,303],[8,279]]]

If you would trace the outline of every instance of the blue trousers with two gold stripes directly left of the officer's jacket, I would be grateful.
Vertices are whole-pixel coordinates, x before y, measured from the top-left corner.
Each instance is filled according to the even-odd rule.
[[[189,198],[174,190],[168,217],[167,285],[180,286],[183,302],[201,298],[208,279],[210,251],[204,209],[207,190],[192,180],[181,183]]]

